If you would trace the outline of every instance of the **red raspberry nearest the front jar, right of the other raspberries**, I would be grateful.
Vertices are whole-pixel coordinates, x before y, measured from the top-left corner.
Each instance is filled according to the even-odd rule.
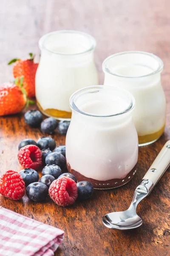
[[[78,196],[75,181],[68,177],[54,180],[48,192],[51,199],[60,206],[74,204]]]

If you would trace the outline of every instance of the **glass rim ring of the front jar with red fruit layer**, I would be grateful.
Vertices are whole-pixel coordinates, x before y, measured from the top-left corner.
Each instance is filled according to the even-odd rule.
[[[113,90],[113,91],[119,91],[119,92],[122,92],[124,94],[126,94],[127,96],[129,96],[130,98],[130,104],[128,105],[127,108],[125,108],[124,111],[121,111],[121,112],[118,112],[116,114],[111,114],[111,115],[94,115],[94,114],[90,114],[90,113],[86,113],[84,111],[81,111],[75,104],[75,100],[77,98],[77,96],[80,96],[86,92],[91,92],[93,93],[94,90],[100,90],[100,89],[108,89],[108,90]],[[128,92],[127,90],[125,89],[122,89],[122,88],[119,88],[119,87],[114,87],[114,86],[108,86],[108,85],[94,85],[94,86],[88,86],[88,87],[84,87],[80,90],[77,90],[75,93],[73,93],[70,97],[70,107],[72,110],[78,112],[78,113],[81,113],[85,116],[93,116],[93,117],[111,117],[111,116],[119,116],[119,115],[122,115],[122,114],[125,114],[127,112],[131,112],[133,110],[133,108],[135,107],[135,98],[133,97],[133,95]]]

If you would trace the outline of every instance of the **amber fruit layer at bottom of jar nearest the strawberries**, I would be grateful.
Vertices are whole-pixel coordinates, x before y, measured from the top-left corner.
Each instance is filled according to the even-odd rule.
[[[71,112],[62,111],[54,108],[48,108],[48,109],[42,109],[39,102],[37,102],[37,106],[40,109],[40,111],[45,114],[45,116],[52,116],[54,118],[63,118],[63,119],[70,119],[71,118]]]

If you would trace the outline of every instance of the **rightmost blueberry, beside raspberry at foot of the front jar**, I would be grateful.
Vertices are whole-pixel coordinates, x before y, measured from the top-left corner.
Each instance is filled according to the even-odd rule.
[[[78,198],[85,200],[93,195],[93,185],[89,181],[80,181],[77,183]]]

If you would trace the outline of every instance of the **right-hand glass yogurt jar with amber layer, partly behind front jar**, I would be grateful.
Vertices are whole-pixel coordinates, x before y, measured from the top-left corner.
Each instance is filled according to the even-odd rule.
[[[164,132],[166,121],[161,59],[147,52],[120,52],[106,58],[102,68],[105,85],[124,88],[135,97],[133,120],[139,145],[158,140]]]

